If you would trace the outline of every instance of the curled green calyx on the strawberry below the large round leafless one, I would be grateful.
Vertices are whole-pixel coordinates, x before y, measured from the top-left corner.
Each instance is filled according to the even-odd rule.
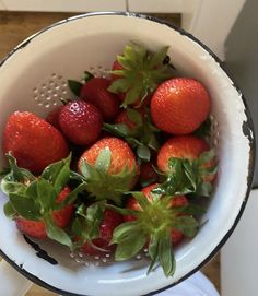
[[[218,166],[215,162],[209,166],[207,164],[213,162],[214,157],[214,150],[210,150],[201,153],[197,159],[169,158],[165,180],[154,189],[154,192],[209,197],[212,192],[212,183],[207,180],[207,177],[214,176]]]

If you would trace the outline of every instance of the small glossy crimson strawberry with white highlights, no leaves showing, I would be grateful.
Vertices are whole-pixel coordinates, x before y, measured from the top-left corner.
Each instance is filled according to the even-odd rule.
[[[59,115],[63,134],[78,145],[93,144],[101,135],[102,123],[98,109],[82,99],[68,103]]]

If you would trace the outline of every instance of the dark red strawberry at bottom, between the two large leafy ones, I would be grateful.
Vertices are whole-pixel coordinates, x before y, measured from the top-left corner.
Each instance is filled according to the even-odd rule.
[[[99,237],[94,238],[91,242],[86,241],[82,247],[82,251],[94,256],[110,252],[114,245],[110,245],[114,229],[122,223],[122,216],[113,210],[106,209],[104,212],[103,221],[99,225]],[[97,247],[97,248],[95,248]]]

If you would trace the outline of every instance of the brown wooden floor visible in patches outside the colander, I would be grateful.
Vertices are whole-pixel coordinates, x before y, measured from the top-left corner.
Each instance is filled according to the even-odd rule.
[[[33,33],[44,28],[62,19],[75,15],[74,13],[14,13],[0,12],[0,60],[13,47]],[[167,19],[176,25],[180,25],[179,15],[155,14],[155,16]],[[208,263],[202,272],[212,281],[220,291],[220,257],[216,256]],[[26,296],[55,296],[57,294],[48,292],[37,285],[27,292]],[[195,295],[192,295],[195,296]]]

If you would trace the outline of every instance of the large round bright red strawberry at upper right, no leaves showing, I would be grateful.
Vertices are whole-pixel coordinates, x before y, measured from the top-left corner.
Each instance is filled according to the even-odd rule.
[[[154,125],[173,134],[187,134],[197,130],[208,118],[211,99],[204,86],[188,78],[163,82],[151,100]]]

